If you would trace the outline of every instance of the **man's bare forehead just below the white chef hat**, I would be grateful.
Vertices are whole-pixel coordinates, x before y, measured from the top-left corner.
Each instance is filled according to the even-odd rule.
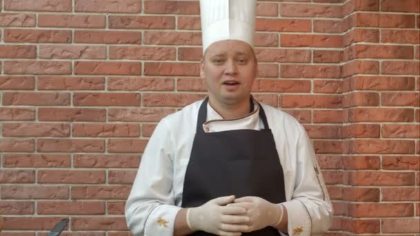
[[[254,55],[254,50],[248,43],[239,40],[223,40],[212,43],[204,55]]]

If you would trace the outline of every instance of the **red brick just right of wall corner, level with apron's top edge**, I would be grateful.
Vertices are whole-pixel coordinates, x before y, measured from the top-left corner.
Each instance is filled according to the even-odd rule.
[[[379,138],[381,126],[377,124],[350,124],[343,126],[343,138]]]

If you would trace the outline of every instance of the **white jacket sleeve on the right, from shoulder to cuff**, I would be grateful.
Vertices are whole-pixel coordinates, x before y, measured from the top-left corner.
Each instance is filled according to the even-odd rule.
[[[323,235],[332,224],[332,203],[327,193],[314,148],[303,126],[296,150],[296,175],[287,208],[288,233],[292,236]]]

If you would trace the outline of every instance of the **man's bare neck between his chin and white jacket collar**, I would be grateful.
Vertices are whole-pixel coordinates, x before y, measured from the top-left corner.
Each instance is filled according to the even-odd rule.
[[[227,104],[215,101],[209,97],[209,104],[211,108],[216,110],[223,117],[223,119],[238,119],[240,117],[245,117],[249,114],[249,101],[250,99],[244,99],[243,101]]]

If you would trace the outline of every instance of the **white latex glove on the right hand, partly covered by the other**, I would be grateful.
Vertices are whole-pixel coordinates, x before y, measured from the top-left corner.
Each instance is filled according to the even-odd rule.
[[[245,216],[249,217],[248,230],[242,232],[252,232],[267,226],[276,226],[283,219],[283,207],[273,204],[260,197],[241,197],[235,199],[229,206],[238,206],[247,209]]]

